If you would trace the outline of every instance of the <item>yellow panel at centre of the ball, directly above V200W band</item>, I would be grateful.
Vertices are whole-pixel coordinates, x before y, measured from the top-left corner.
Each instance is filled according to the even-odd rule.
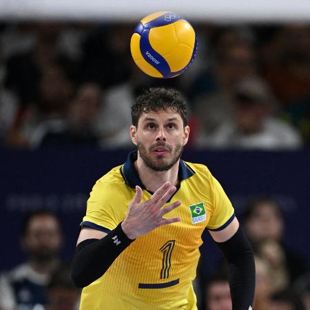
[[[150,29],[149,43],[161,56],[172,52],[176,45],[178,45],[174,24],[171,23],[170,25]]]

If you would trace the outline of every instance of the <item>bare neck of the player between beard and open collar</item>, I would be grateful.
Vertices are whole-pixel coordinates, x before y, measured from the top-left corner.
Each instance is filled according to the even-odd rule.
[[[138,172],[141,182],[149,192],[156,192],[156,190],[163,185],[165,182],[170,182],[172,185],[176,186],[178,183],[178,165],[177,161],[174,166],[162,172],[154,171],[153,169],[147,167],[142,158],[138,156],[138,159],[134,162],[134,167]]]

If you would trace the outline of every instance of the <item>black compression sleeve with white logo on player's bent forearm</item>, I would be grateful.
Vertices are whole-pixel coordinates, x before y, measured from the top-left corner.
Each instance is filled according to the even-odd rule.
[[[76,287],[86,287],[103,276],[114,260],[134,241],[121,223],[102,239],[87,239],[76,247],[71,276]]]

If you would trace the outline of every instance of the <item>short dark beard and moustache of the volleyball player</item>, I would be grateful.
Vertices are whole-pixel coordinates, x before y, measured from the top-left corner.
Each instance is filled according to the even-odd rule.
[[[166,145],[163,142],[154,143],[154,145],[151,145],[148,149],[141,143],[141,141],[138,141],[137,143],[138,152],[142,158],[143,163],[146,167],[149,167],[150,169],[156,171],[156,172],[162,172],[167,171],[171,169],[174,164],[180,159],[180,156],[183,152],[183,145],[180,143],[176,145],[176,148],[174,149],[174,153],[172,154],[172,159],[170,161],[154,161],[152,159],[152,150],[154,147],[163,146],[166,147],[168,152],[172,153],[172,147],[169,145]],[[164,158],[162,155],[158,155],[158,159]]]

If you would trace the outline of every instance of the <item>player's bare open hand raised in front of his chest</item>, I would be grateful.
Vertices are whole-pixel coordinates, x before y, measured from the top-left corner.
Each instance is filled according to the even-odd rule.
[[[136,186],[136,195],[130,203],[122,223],[122,229],[126,236],[135,239],[162,225],[180,222],[178,217],[163,218],[165,214],[181,204],[180,200],[176,200],[172,205],[163,208],[174,192],[176,192],[176,187],[166,182],[156,190],[149,200],[141,203],[143,192],[141,187]]]

